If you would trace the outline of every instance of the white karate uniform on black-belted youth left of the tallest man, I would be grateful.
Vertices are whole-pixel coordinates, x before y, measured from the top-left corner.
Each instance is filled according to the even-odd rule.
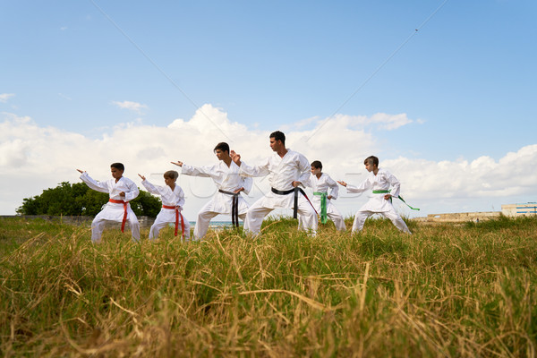
[[[209,177],[213,180],[218,190],[225,192],[234,192],[237,189],[244,188],[244,193],[248,194],[251,190],[252,179],[239,174],[239,166],[233,161],[227,166],[223,160],[218,161],[213,166],[188,166],[183,164],[181,174],[191,176]],[[210,220],[218,214],[231,215],[233,205],[233,196],[224,192],[217,192],[207,204],[200,209],[196,225],[194,226],[194,236],[200,240],[207,234]],[[239,194],[238,216],[244,221],[248,203]]]

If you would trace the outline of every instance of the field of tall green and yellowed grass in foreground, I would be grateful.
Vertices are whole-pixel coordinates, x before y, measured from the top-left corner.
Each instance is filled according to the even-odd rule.
[[[0,219],[4,357],[534,357],[537,217],[149,242]],[[144,238],[145,237],[145,238]]]

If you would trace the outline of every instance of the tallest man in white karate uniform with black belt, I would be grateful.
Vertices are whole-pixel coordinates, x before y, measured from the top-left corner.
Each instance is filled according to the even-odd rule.
[[[286,149],[286,135],[283,132],[270,133],[270,148],[275,152],[260,166],[248,166],[241,156],[231,151],[231,158],[240,166],[241,175],[269,175],[272,187],[263,198],[248,209],[244,220],[244,232],[259,234],[263,218],[274,209],[294,209],[300,229],[310,234],[317,233],[317,213],[310,200],[300,188],[310,177],[310,162],[302,154]]]

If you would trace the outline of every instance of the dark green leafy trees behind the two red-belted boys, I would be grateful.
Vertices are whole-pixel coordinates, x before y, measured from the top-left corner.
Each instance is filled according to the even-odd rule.
[[[20,215],[92,217],[98,214],[108,199],[106,192],[96,192],[85,183],[63,182],[44,190],[41,195],[23,199],[16,211]],[[159,198],[145,191],[140,191],[140,195],[130,203],[137,216],[157,217],[162,207]]]

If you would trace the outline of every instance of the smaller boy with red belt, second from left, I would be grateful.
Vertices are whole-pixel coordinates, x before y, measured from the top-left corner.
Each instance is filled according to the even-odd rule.
[[[139,174],[140,175],[140,174]],[[181,212],[184,205],[184,192],[183,189],[175,183],[179,173],[175,170],[168,170],[164,174],[164,183],[166,185],[154,185],[149,183],[145,176],[140,175],[142,180],[142,185],[148,190],[148,192],[159,195],[160,200],[162,200],[162,209],[157,215],[155,222],[149,228],[149,240],[156,240],[158,238],[158,232],[166,225],[170,223],[175,224],[175,236],[179,227],[183,233],[183,237],[188,241],[190,238],[190,223],[183,216]]]

